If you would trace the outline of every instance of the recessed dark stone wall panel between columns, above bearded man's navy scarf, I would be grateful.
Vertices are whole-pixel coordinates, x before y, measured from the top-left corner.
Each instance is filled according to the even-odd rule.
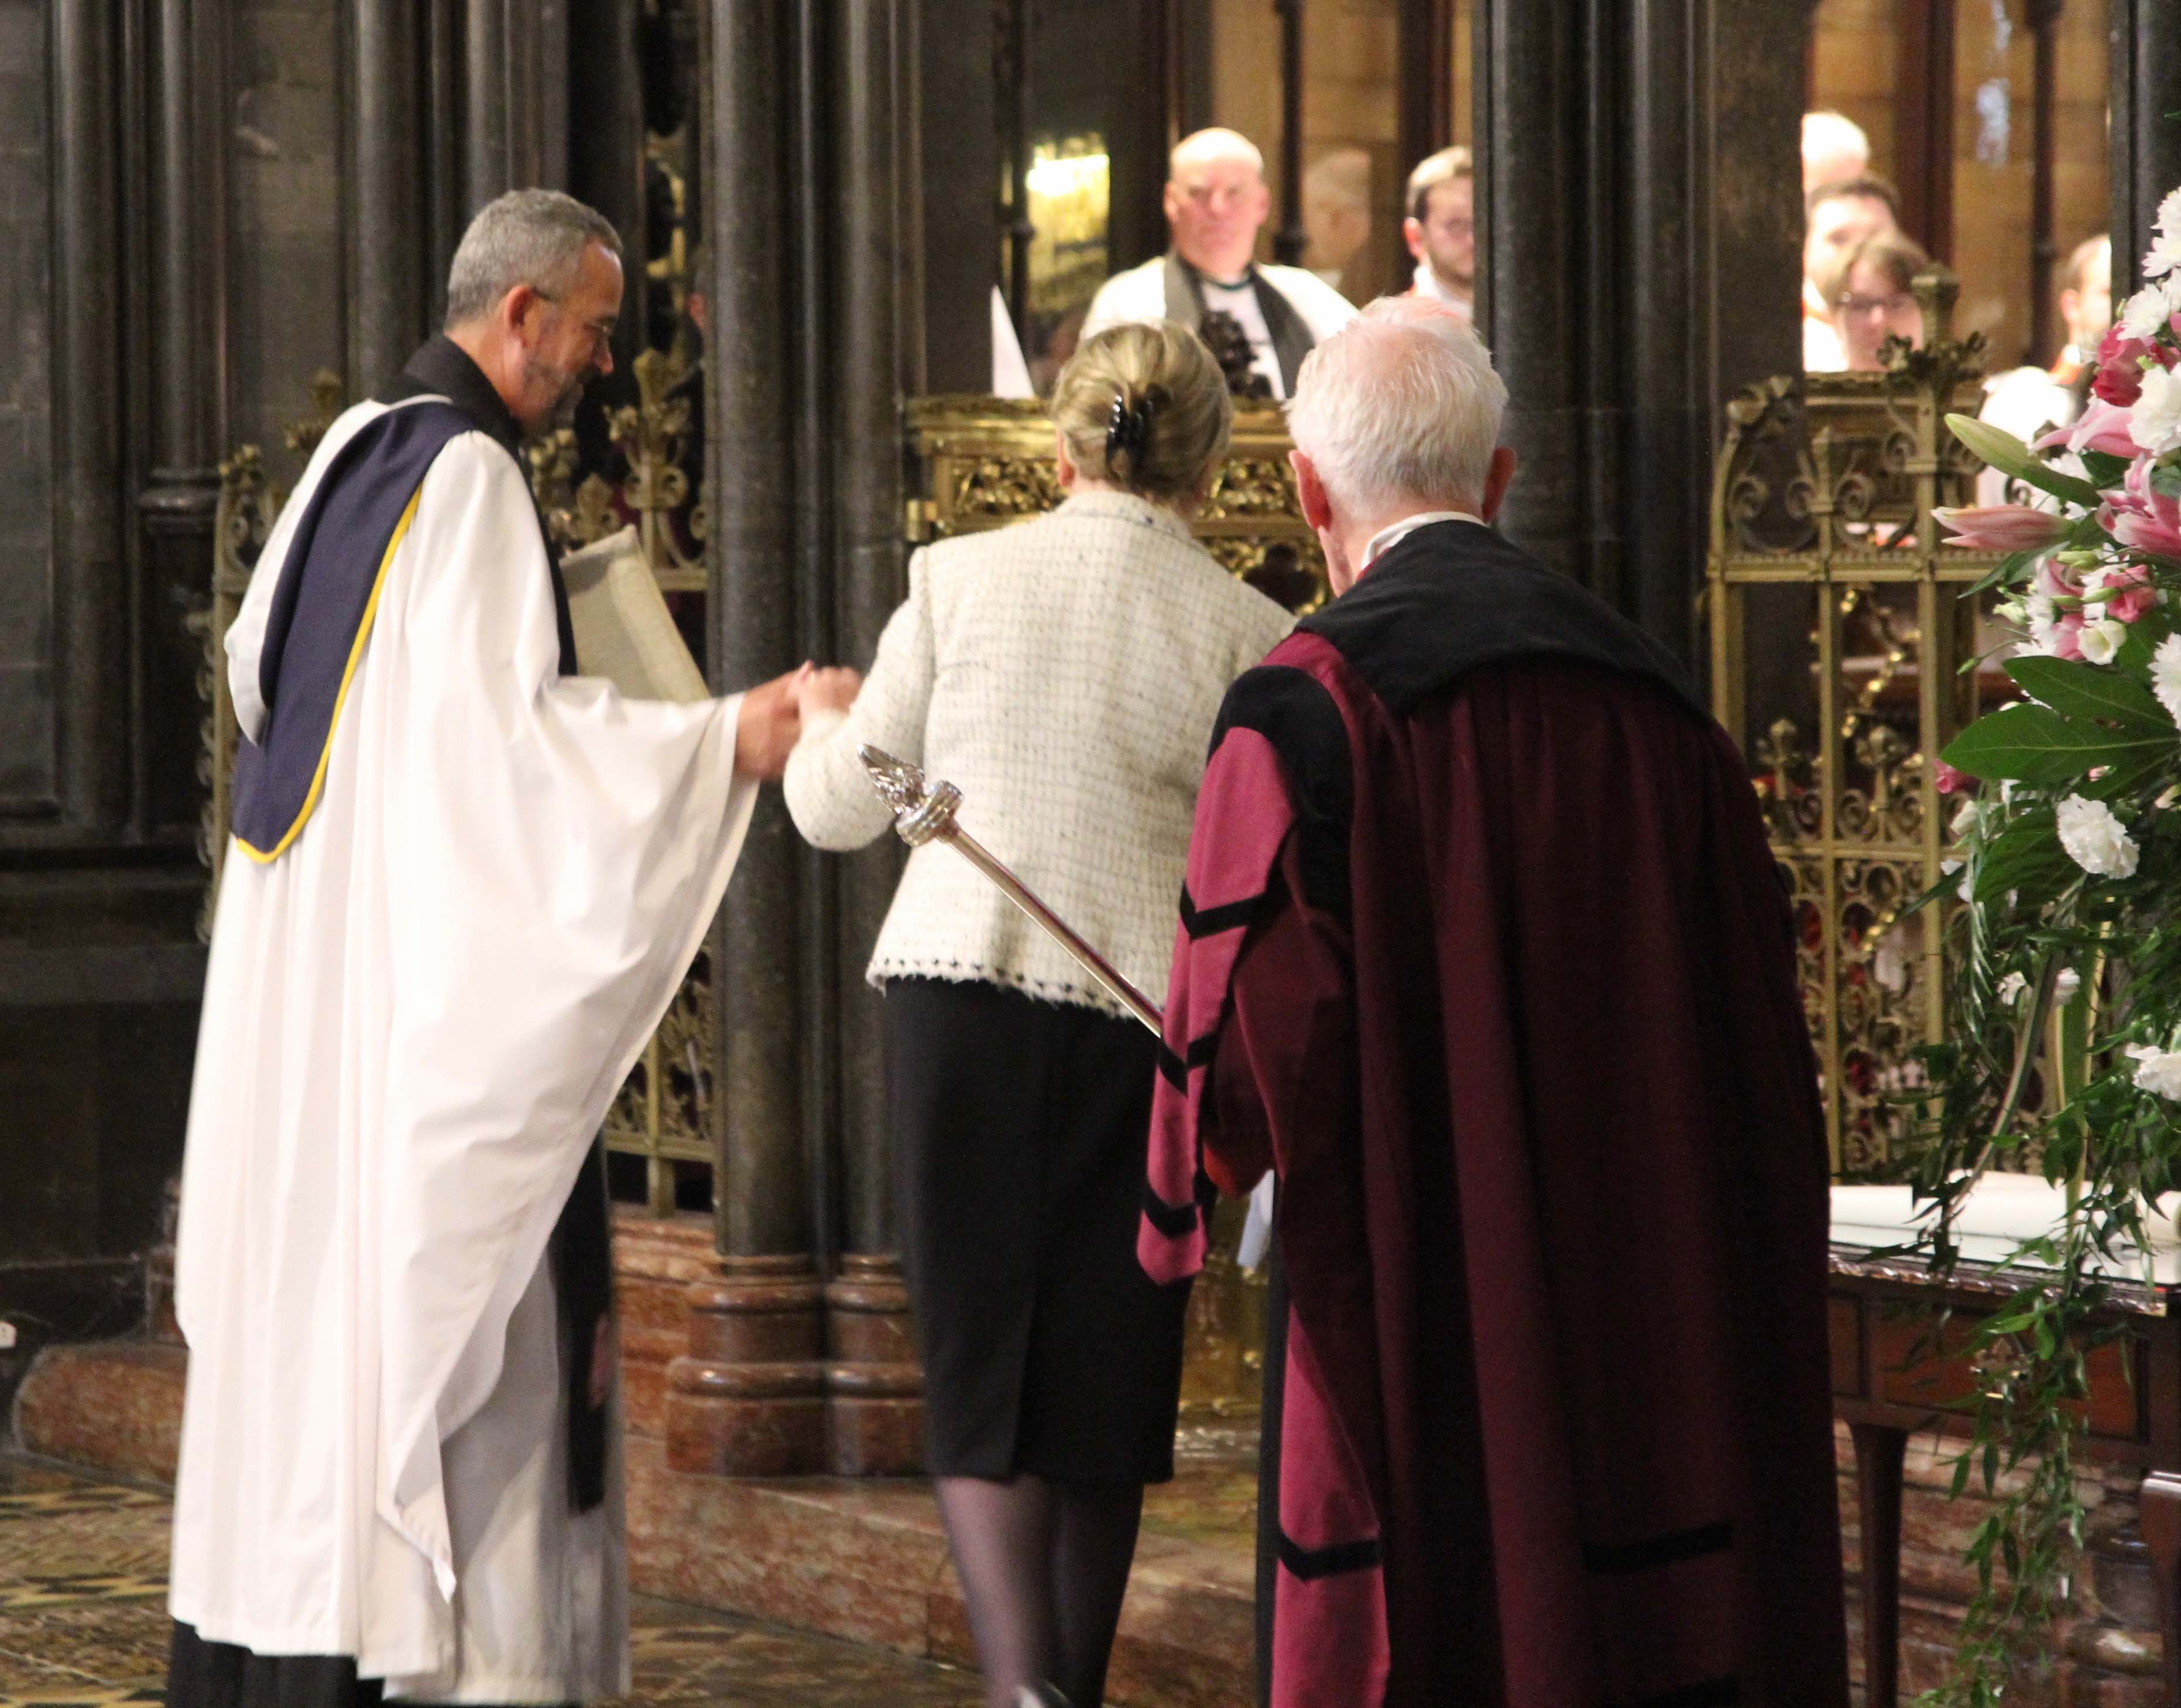
[[[227,131],[229,421],[284,478],[281,430],[342,369],[336,0],[238,0]]]

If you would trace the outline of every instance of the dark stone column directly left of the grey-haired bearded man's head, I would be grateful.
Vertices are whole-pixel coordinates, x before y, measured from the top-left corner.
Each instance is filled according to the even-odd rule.
[[[432,9],[434,26],[445,22],[443,13],[443,7]],[[425,194],[427,120],[419,113],[419,92],[425,87],[421,50],[434,48],[436,65],[443,44],[436,28],[430,44],[419,44],[417,7],[406,0],[349,0],[345,28],[347,380],[349,397],[371,397],[425,340],[436,301],[425,266],[436,225],[430,212],[436,209]]]

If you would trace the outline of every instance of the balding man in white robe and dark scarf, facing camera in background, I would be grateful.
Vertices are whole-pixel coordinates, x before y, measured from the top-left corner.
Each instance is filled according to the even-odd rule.
[[[1354,303],[1309,268],[1256,264],[1256,233],[1272,212],[1265,157],[1234,131],[1182,137],[1167,161],[1165,205],[1167,253],[1099,286],[1084,338],[1123,321],[1180,321],[1206,334],[1221,362],[1232,345],[1230,384],[1252,375],[1267,395],[1287,397],[1302,358],[1348,323]]]

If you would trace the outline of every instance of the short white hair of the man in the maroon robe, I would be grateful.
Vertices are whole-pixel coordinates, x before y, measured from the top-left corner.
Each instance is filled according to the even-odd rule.
[[[1333,497],[1479,504],[1507,384],[1468,321],[1422,297],[1381,297],[1302,358],[1287,432]]]

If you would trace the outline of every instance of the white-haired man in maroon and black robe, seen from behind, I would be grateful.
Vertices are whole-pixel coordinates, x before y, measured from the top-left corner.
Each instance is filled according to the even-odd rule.
[[[1503,406],[1415,299],[1302,366],[1337,598],[1213,735],[1138,1252],[1276,1171],[1278,1708],[1841,1708],[1788,907],[1675,661],[1487,526]]]

